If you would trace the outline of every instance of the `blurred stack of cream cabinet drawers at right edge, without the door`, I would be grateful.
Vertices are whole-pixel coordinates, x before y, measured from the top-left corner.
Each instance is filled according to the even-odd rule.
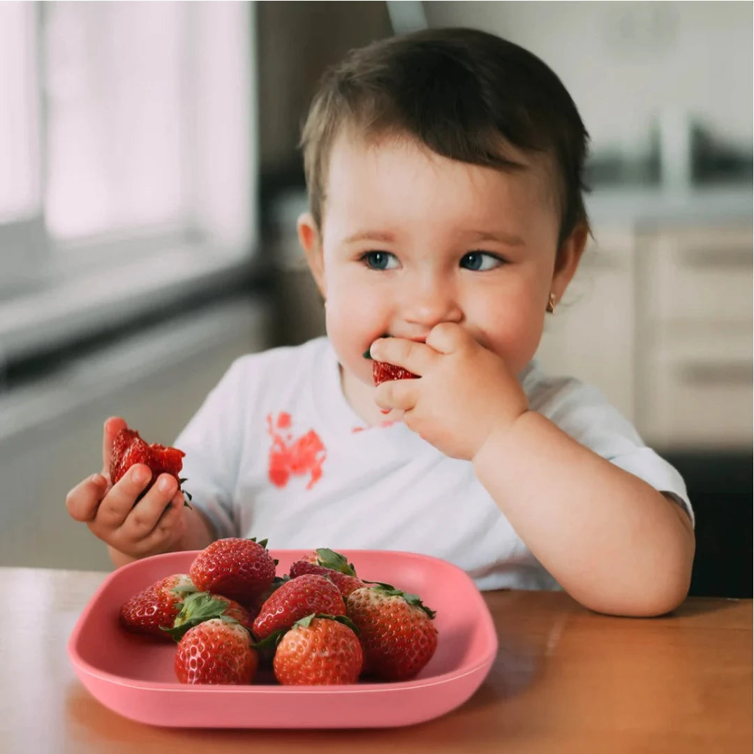
[[[681,449],[752,441],[752,228],[639,237],[637,424]]]

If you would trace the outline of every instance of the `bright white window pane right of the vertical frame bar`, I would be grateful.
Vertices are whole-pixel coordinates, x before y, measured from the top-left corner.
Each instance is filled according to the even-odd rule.
[[[174,2],[44,7],[44,206],[55,238],[180,222],[189,210],[189,11]]]

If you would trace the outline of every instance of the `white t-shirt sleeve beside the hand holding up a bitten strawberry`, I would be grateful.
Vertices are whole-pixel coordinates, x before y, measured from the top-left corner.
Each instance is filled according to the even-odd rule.
[[[185,452],[183,487],[192,495],[192,506],[213,523],[219,538],[239,536],[233,499],[246,415],[244,358],[225,372],[175,443]]]

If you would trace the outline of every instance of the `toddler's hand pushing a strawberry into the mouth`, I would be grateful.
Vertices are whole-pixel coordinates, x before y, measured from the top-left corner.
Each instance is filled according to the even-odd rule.
[[[426,343],[381,338],[369,353],[420,378],[383,382],[377,405],[403,411],[409,429],[453,458],[472,460],[493,430],[509,428],[529,408],[504,361],[460,325],[440,323]]]

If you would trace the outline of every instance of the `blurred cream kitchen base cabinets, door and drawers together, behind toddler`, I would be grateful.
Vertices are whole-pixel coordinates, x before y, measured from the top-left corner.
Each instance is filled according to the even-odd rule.
[[[752,442],[751,225],[598,228],[538,360],[658,449]]]

